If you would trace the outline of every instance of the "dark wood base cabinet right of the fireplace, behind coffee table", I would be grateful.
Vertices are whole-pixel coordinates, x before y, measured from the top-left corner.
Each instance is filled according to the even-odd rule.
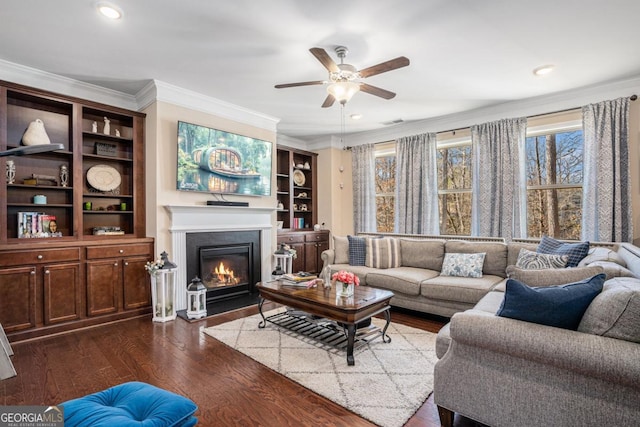
[[[296,250],[293,272],[319,273],[322,270],[322,251],[329,248],[329,231],[298,231],[278,234],[278,243],[286,243]]]

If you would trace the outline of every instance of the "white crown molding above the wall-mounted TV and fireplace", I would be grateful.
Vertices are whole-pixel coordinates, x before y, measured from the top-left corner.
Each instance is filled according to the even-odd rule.
[[[221,101],[210,96],[183,89],[178,86],[164,83],[159,80],[152,80],[137,94],[136,99],[140,110],[148,107],[155,101],[167,102],[204,113],[213,114],[218,117],[255,126],[276,132],[276,127],[280,119],[249,110],[225,101]]]

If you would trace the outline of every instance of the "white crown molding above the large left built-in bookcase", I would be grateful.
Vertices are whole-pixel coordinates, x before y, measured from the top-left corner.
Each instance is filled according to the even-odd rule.
[[[49,92],[138,110],[133,95],[0,59],[0,79]]]

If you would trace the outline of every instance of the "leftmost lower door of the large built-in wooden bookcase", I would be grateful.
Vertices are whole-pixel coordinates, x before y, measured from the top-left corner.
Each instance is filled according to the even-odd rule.
[[[0,324],[5,332],[36,326],[36,268],[0,270]]]

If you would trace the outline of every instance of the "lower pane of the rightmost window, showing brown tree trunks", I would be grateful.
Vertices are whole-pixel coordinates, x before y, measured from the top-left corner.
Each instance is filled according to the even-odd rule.
[[[527,234],[579,240],[582,188],[527,191]]]

